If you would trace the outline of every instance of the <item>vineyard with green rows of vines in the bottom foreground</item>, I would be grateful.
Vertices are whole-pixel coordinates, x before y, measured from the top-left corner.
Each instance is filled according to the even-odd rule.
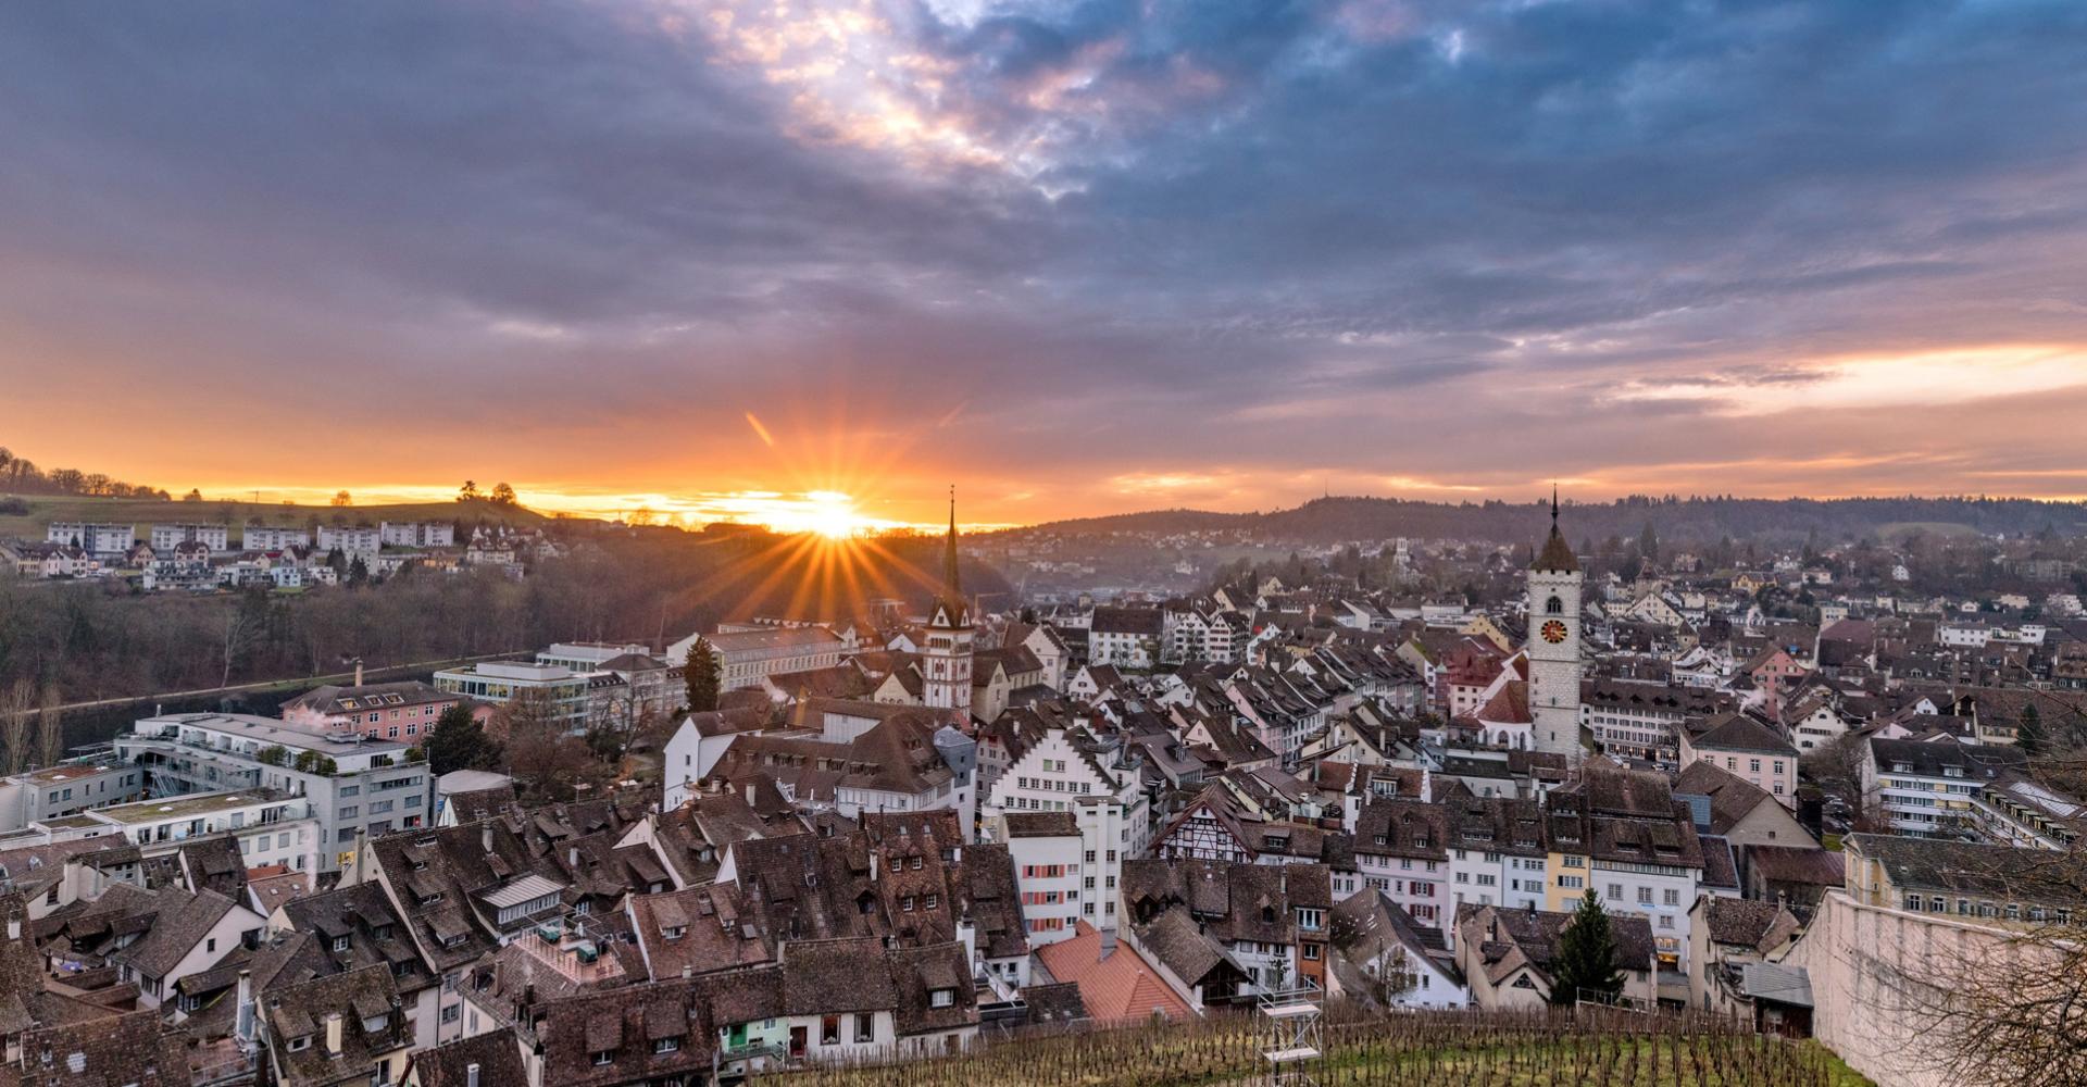
[[[1814,1043],[1630,1012],[1419,1012],[1325,1022],[1319,1087],[1855,1087]],[[762,1087],[1246,1087],[1267,1079],[1250,1014],[985,1041],[960,1056],[808,1068]]]

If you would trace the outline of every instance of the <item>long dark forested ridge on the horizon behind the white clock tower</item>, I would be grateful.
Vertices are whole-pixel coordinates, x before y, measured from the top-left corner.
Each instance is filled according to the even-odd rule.
[[[1526,542],[1551,524],[1551,505],[1538,503],[1421,503],[1405,499],[1313,499],[1296,509],[1269,513],[1210,513],[1165,509],[1052,522],[1016,532],[1210,532],[1242,530],[1261,540],[1342,542],[1411,538],[1463,538]],[[1716,542],[1759,538],[1820,540],[1903,532],[2087,532],[2087,503],[2033,499],[1676,499],[1630,497],[1613,503],[1567,503],[1565,532],[1580,542],[1636,536],[1647,524],[1661,540]]]

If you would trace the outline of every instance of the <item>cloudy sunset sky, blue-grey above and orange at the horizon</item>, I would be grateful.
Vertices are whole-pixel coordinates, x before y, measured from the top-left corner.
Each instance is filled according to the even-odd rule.
[[[691,520],[2079,499],[2081,56],[2072,0],[4,4],[0,442]]]

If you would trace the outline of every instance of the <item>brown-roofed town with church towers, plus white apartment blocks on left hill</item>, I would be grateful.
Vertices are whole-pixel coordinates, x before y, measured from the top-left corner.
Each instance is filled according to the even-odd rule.
[[[2087,741],[2072,545],[1987,540],[2008,588],[1928,593],[1910,549],[1647,540],[1626,576],[1569,536],[1553,505],[1528,547],[983,601],[952,511],[925,609],[140,716],[0,780],[6,1064],[697,1085],[1154,1018],[1597,1004],[1939,1083],[1935,1024],[1876,979],[2087,918],[2049,876],[2087,807],[2037,774]],[[54,524],[8,557],[161,593],[520,576],[553,547]],[[626,736],[626,774],[547,797],[438,766],[438,726],[524,718]],[[1317,1060],[1294,1037],[1271,1074]]]

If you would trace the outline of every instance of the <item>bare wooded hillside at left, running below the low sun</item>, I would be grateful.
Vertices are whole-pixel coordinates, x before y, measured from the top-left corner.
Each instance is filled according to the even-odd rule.
[[[0,693],[27,684],[54,701],[198,691],[248,680],[490,653],[557,641],[659,645],[720,620],[845,620],[872,599],[925,611],[941,576],[939,540],[829,542],[755,528],[705,532],[545,522],[568,549],[509,580],[490,567],[407,572],[309,593],[138,593],[121,582],[0,578]],[[964,590],[1004,605],[1008,582],[966,559]]]

